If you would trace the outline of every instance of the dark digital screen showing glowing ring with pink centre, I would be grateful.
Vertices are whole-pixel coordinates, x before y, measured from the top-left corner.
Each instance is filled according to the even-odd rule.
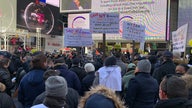
[[[57,0],[58,1],[58,0]],[[17,0],[17,28],[36,32],[41,28],[42,34],[62,35],[62,23],[59,7],[46,0]]]

